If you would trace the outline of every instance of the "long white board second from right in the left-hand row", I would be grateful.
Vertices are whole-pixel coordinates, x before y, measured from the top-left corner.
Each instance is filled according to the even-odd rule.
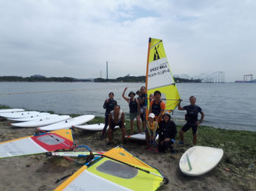
[[[49,126],[41,126],[38,129],[44,130],[44,131],[55,131],[58,129],[68,129],[72,126],[77,126],[83,123],[88,122],[89,120],[92,120],[95,116],[94,115],[82,115],[77,118],[72,118],[66,121],[61,121],[59,123],[54,123]]]

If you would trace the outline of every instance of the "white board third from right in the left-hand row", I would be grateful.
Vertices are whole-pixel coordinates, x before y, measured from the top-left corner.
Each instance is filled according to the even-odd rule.
[[[46,118],[41,120],[32,120],[21,123],[10,123],[11,126],[19,126],[19,127],[39,127],[39,126],[48,126],[52,123],[58,123],[63,120],[68,120],[70,118],[69,115],[60,115],[55,118]]]

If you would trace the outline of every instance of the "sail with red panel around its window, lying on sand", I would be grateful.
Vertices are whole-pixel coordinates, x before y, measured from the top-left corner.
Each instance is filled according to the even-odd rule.
[[[41,154],[71,148],[73,148],[72,130],[61,129],[0,143],[0,158]]]

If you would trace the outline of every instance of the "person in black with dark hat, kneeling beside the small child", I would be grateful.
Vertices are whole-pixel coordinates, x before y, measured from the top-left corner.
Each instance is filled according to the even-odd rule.
[[[170,148],[171,152],[173,150],[173,143],[175,143],[177,128],[176,124],[170,120],[170,113],[165,112],[162,116],[163,120],[159,123],[159,152],[165,152],[167,148]]]

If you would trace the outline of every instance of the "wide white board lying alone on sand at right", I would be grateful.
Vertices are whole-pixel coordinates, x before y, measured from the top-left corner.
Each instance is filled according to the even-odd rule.
[[[179,168],[188,176],[200,176],[218,165],[223,154],[221,148],[193,146],[181,156]]]

